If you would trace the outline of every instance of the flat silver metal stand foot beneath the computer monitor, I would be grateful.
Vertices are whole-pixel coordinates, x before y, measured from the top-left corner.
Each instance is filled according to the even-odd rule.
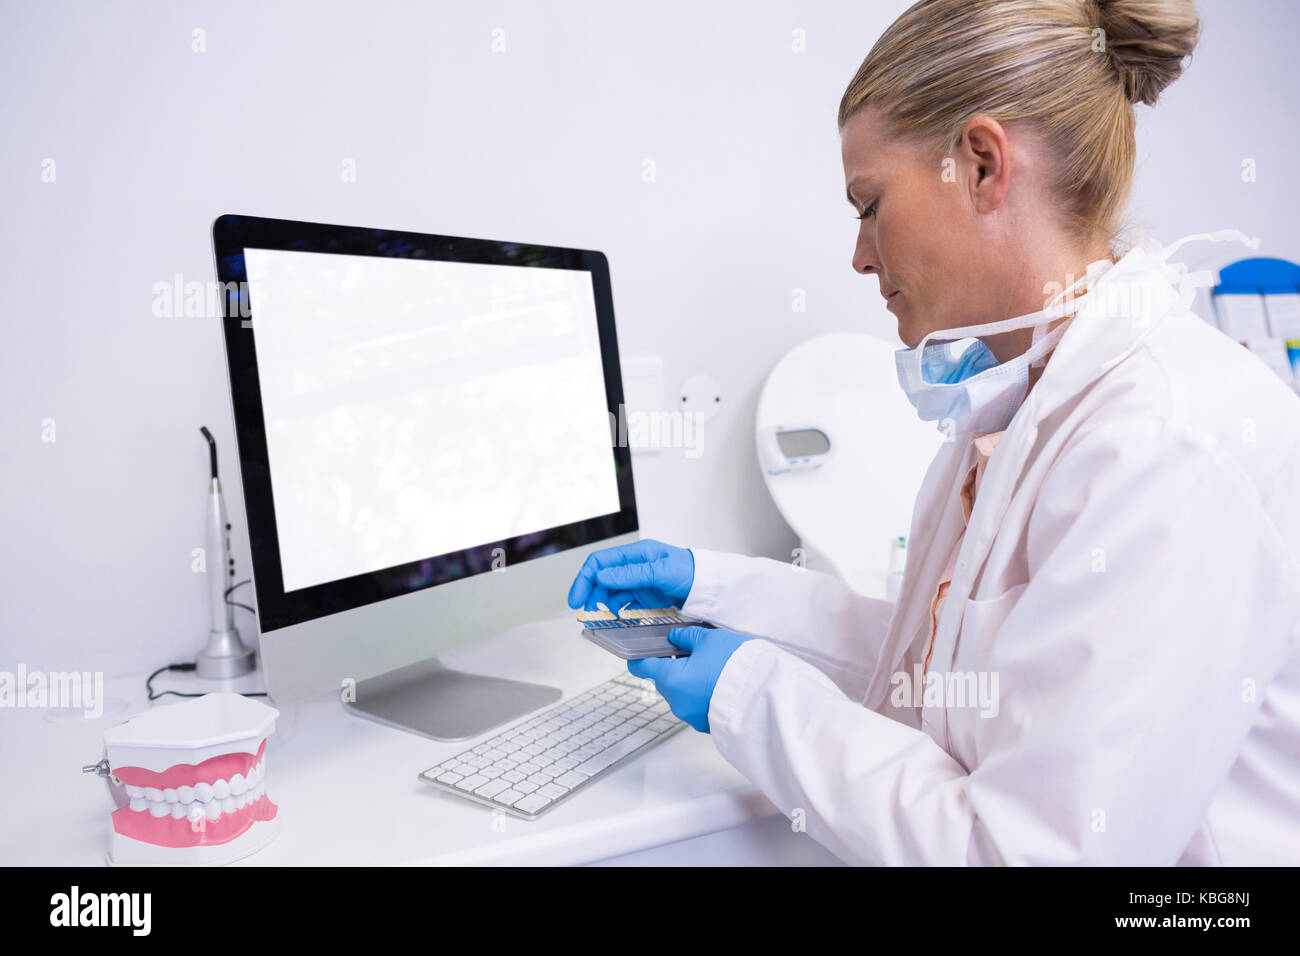
[[[358,717],[434,740],[468,740],[563,696],[558,687],[452,670],[430,657],[356,684]]]

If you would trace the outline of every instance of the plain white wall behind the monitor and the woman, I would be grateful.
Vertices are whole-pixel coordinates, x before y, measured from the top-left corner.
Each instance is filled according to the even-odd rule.
[[[796,342],[892,334],[875,280],[849,267],[835,116],[904,7],[5,3],[0,669],[192,659],[207,627],[190,557],[200,424],[248,571],[218,324],[151,311],[155,282],[213,277],[222,212],[604,251],[624,356],[662,355],[670,389],[706,372],[724,392],[702,457],[636,459],[644,533],[788,557],[754,406]],[[1200,9],[1190,73],[1141,111],[1134,219],[1166,241],[1239,226],[1300,260],[1300,7]],[[195,27],[207,52],[191,51]],[[1187,261],[1243,255],[1193,246]]]

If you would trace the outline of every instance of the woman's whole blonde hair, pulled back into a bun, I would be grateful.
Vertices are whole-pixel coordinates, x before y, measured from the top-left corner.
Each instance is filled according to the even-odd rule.
[[[1134,104],[1153,105],[1200,36],[1192,0],[920,0],[862,61],[840,129],[872,107],[936,161],[976,114],[1056,157],[1060,221],[1114,239],[1132,186]]]

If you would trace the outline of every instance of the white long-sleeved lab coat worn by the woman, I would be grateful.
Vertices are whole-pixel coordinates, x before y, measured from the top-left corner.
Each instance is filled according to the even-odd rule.
[[[1178,278],[1141,248],[1112,267],[1149,308],[1082,312],[988,462],[930,670],[996,674],[996,714],[894,676],[924,656],[968,436],[926,475],[897,610],[693,549],[684,611],[757,637],[712,739],[842,860],[1300,864],[1300,398]]]

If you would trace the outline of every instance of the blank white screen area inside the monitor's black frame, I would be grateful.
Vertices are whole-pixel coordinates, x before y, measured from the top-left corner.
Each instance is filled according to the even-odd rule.
[[[589,272],[244,264],[286,592],[619,510]]]

